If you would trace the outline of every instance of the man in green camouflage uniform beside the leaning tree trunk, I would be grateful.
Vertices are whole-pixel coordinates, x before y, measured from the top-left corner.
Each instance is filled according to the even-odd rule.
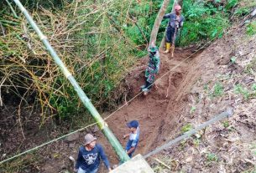
[[[151,89],[154,83],[155,75],[159,72],[159,66],[159,50],[154,44],[152,44],[152,46],[149,47],[149,64],[145,71],[146,84],[140,87],[144,94],[147,94]]]

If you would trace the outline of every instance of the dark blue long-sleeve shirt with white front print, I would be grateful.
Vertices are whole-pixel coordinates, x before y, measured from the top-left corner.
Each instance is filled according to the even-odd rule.
[[[81,167],[86,172],[91,172],[99,167],[101,159],[106,165],[107,169],[110,168],[107,155],[105,154],[102,145],[96,144],[95,147],[88,151],[85,146],[81,146],[76,160],[76,169]]]

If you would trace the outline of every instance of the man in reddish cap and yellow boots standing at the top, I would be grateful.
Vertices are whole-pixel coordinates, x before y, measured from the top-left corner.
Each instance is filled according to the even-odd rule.
[[[169,18],[170,21],[167,26],[166,31],[166,50],[164,53],[169,53],[170,48],[172,48],[171,51],[171,57],[174,56],[175,51],[175,38],[176,33],[179,31],[179,29],[183,26],[184,17],[181,15],[181,7],[180,5],[175,6],[175,13],[168,13],[165,14],[164,18]]]

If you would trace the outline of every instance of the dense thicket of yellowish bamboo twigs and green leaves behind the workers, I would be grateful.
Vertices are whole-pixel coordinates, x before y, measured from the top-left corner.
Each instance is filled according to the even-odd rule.
[[[109,109],[122,101],[126,92],[123,78],[136,59],[147,54],[146,45],[161,0],[21,2],[30,13],[33,12],[39,27],[49,36],[60,58],[98,109]],[[229,26],[231,9],[237,4],[237,0],[225,4],[221,1],[184,1],[185,24],[177,44],[185,46],[221,36]],[[12,2],[11,5],[18,18],[10,8],[0,12],[3,26],[0,29],[0,56],[3,57],[0,64],[6,67],[0,74],[2,79],[8,77],[8,88],[3,87],[3,90],[24,100],[30,95],[36,96],[33,101],[41,107],[43,121],[54,114],[59,114],[63,120],[85,114],[71,84],[56,68],[18,8]],[[4,2],[3,7],[9,6]],[[167,23],[163,20],[159,28],[158,43]],[[248,26],[250,34],[252,27]],[[214,95],[221,90],[217,88]],[[192,108],[191,113],[193,111]]]

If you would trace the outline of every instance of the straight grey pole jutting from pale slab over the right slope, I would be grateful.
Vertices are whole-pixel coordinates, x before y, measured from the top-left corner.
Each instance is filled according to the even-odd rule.
[[[195,129],[189,130],[184,135],[181,135],[180,137],[176,138],[175,140],[170,140],[170,142],[166,143],[165,145],[162,145],[159,148],[156,148],[155,150],[149,152],[147,155],[144,155],[144,159],[148,158],[151,155],[155,155],[155,154],[159,153],[161,150],[170,148],[171,145],[175,145],[180,140],[185,140],[187,137],[190,137],[191,135],[195,134],[198,130],[203,129],[206,126],[211,125],[212,123],[215,123],[216,121],[222,120],[223,118],[230,117],[232,114],[233,114],[232,108],[228,108],[227,111],[222,112],[222,114],[218,114],[212,120],[208,120],[205,123],[198,125]]]

